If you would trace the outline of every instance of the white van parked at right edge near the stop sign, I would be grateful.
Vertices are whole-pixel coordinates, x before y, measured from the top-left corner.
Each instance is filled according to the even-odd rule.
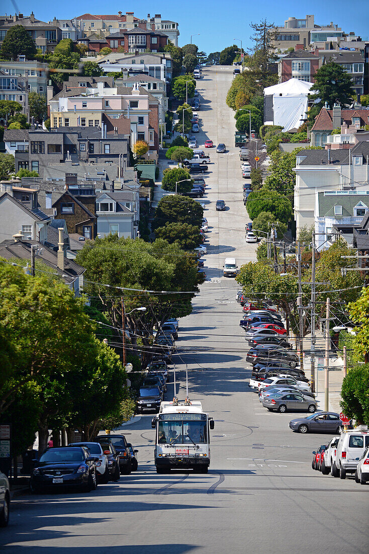
[[[337,444],[336,460],[331,469],[332,475],[340,475],[340,479],[346,479],[346,473],[355,473],[358,461],[368,447],[369,431],[366,426],[360,425],[356,429],[342,433]]]

